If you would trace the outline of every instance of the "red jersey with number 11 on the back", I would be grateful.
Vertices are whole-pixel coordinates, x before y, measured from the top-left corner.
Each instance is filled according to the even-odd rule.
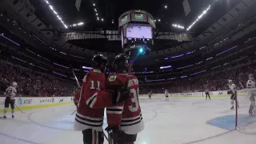
[[[112,97],[105,91],[105,74],[90,70],[83,78],[74,130],[102,131],[104,110],[112,106]]]

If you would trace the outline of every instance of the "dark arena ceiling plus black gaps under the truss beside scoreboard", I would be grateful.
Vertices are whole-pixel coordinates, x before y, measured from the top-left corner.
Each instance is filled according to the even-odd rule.
[[[47,2],[54,7],[67,29],[50,10],[45,0],[30,0],[30,2],[34,4],[35,14],[38,18],[42,18],[43,22],[62,32],[118,30],[118,18],[122,13],[127,10],[146,10],[154,16],[158,31],[197,35],[201,34],[203,30],[206,30],[241,0],[189,0],[191,11],[188,15],[184,12],[182,0],[82,0],[79,11],[75,6],[76,0],[48,0]],[[202,14],[203,10],[206,10],[207,6],[212,7],[197,24],[187,31],[186,28],[198,18],[199,14]],[[83,22],[83,25],[74,26],[79,22]],[[172,24],[184,26],[185,29],[177,29]],[[88,50],[110,53],[117,53],[121,50],[121,42],[110,42],[104,38],[71,40],[69,42]],[[152,51],[166,50],[182,43],[184,42],[156,40]]]

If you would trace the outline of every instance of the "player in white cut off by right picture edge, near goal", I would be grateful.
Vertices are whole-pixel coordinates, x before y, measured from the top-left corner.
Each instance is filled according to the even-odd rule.
[[[255,114],[256,86],[255,86],[255,79],[253,74],[249,74],[249,80],[246,83],[246,88],[249,89],[247,91],[247,97],[250,99],[249,115],[253,116],[253,115],[256,115]]]

